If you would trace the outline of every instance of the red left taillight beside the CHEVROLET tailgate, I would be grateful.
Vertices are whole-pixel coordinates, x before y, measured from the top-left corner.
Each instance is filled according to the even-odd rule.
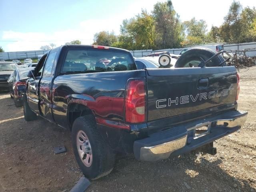
[[[128,80],[124,98],[125,121],[141,123],[146,121],[146,83],[145,78]]]

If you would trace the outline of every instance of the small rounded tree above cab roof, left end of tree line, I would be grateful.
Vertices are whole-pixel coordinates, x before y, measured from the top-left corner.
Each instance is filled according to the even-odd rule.
[[[101,31],[94,34],[94,45],[112,46],[117,41],[114,32]]]

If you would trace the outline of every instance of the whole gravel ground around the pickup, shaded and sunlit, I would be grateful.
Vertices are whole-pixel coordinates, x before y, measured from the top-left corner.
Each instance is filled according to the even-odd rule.
[[[118,156],[108,176],[89,192],[255,192],[256,67],[239,70],[239,109],[248,110],[240,132],[214,142],[217,154],[185,154],[159,162]],[[0,94],[0,192],[67,192],[82,176],[70,132],[39,118],[26,122],[8,93]],[[67,152],[53,154],[56,146]]]

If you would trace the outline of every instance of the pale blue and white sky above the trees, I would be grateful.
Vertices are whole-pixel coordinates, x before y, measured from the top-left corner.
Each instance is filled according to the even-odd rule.
[[[122,20],[142,8],[151,12],[158,1],[162,0],[0,0],[0,46],[7,52],[39,50],[42,45],[60,46],[76,39],[92,44],[96,32],[119,34]],[[182,21],[204,19],[210,29],[222,24],[232,0],[172,2]],[[254,0],[240,3],[256,6]]]

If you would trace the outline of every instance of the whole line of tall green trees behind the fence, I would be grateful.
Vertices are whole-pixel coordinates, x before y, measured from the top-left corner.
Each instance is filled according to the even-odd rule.
[[[244,43],[256,41],[256,9],[243,8],[239,1],[230,5],[220,27],[207,31],[204,20],[181,22],[171,0],[158,2],[153,11],[142,10],[134,18],[123,20],[120,35],[101,31],[94,34],[97,45],[127,50],[180,48],[206,43]]]

